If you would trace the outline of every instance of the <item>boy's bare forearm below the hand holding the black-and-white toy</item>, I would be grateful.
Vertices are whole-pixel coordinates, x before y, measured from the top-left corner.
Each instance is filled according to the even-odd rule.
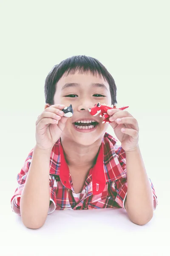
[[[34,147],[26,183],[20,198],[23,224],[29,228],[41,227],[47,218],[50,202],[50,151]]]

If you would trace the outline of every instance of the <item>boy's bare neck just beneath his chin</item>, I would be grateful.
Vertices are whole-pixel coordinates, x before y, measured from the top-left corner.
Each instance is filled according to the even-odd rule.
[[[89,169],[96,162],[96,156],[102,139],[97,140],[92,145],[80,145],[73,141],[62,139],[65,160],[69,167]]]

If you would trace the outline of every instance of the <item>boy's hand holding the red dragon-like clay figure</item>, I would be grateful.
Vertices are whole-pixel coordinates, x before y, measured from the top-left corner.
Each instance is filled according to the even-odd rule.
[[[133,151],[139,142],[139,126],[137,120],[127,111],[109,109],[107,113],[111,116],[110,125],[118,140],[122,143],[125,152]],[[118,122],[120,119],[120,122]],[[125,128],[125,131],[122,131]]]

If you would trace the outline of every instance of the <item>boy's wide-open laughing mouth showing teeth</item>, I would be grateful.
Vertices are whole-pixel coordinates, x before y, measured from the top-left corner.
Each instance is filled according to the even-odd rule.
[[[96,129],[97,125],[99,125],[98,122],[94,120],[79,120],[77,122],[73,123],[74,128],[76,128],[78,131],[93,131]]]

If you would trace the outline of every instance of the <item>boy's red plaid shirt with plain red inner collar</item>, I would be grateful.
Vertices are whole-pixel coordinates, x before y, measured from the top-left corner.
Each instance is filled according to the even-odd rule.
[[[50,157],[50,204],[48,214],[55,209],[125,209],[125,198],[127,195],[125,151],[121,146],[116,145],[116,141],[117,140],[110,134],[105,133],[99,148],[96,163],[88,172],[80,197],[75,194],[73,189],[73,183],[68,165],[65,161],[61,139],[54,144]],[[20,215],[20,196],[29,171],[33,150],[34,148],[28,154],[23,168],[17,175],[19,186],[11,198],[11,208],[13,212],[18,215]],[[153,191],[155,210],[158,202],[151,180],[150,186]]]

